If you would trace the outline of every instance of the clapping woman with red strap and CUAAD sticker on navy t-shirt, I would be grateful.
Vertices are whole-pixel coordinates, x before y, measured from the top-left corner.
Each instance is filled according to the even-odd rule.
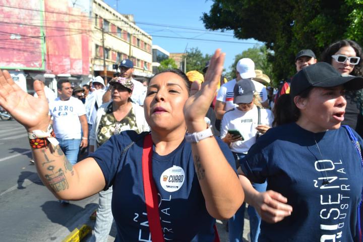
[[[214,218],[231,217],[244,200],[233,156],[204,120],[223,62],[217,50],[202,89],[191,97],[183,72],[155,75],[144,102],[151,133],[114,135],[74,166],[49,137],[39,82],[36,100],[0,72],[0,105],[30,133],[39,175],[56,197],[79,200],[113,186],[116,241],[191,241],[201,231],[210,237],[204,241],[218,241]],[[52,162],[42,166],[45,158]]]

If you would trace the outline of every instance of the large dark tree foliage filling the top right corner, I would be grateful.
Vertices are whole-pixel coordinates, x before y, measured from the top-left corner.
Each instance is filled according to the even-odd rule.
[[[269,61],[278,79],[296,72],[294,58],[300,49],[312,49],[318,57],[340,39],[363,43],[362,0],[212,1],[202,17],[205,27],[264,42],[274,52]]]

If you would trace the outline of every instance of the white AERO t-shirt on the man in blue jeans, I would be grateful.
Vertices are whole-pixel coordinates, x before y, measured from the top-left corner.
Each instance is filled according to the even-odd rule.
[[[67,101],[56,98],[49,103],[49,114],[53,117],[53,130],[59,139],[81,139],[79,116],[86,114],[81,100],[71,97]]]

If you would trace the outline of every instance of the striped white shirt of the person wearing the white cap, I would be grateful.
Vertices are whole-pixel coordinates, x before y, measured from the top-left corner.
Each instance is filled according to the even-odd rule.
[[[254,80],[251,80],[255,86],[256,92],[260,94],[261,103],[267,100],[267,91],[266,87]],[[237,104],[233,103],[233,89],[236,84],[236,79],[233,79],[227,83],[224,83],[218,91],[217,100],[225,103],[225,111],[232,109],[233,107],[237,107]]]

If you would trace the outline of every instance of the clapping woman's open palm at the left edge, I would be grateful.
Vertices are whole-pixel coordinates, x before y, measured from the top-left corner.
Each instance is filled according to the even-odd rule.
[[[50,117],[44,84],[41,81],[34,81],[34,90],[38,98],[23,91],[13,81],[8,71],[0,70],[0,105],[28,131],[46,131]]]

